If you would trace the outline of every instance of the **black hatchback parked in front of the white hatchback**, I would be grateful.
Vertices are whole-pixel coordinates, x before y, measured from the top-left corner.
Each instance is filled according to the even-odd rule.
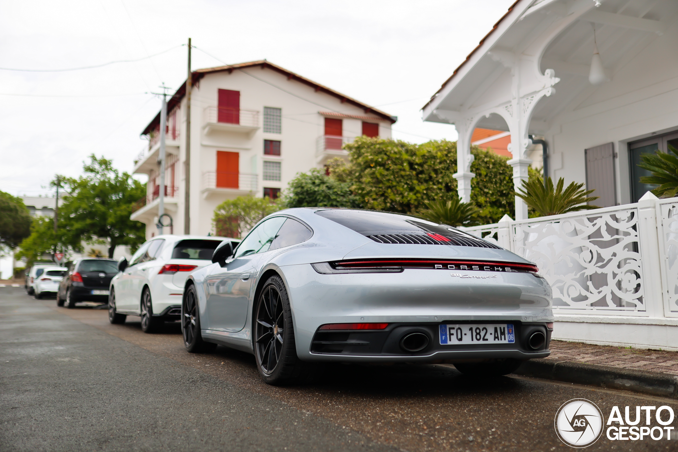
[[[108,286],[118,272],[118,262],[105,258],[82,258],[68,266],[56,293],[57,306],[75,308],[77,302],[108,303]]]

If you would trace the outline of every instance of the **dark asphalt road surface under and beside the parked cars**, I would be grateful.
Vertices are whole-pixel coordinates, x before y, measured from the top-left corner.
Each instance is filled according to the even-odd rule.
[[[58,308],[0,288],[0,451],[565,451],[553,419],[572,398],[678,403],[523,377],[475,381],[446,365],[336,365],[321,382],[263,384],[252,355],[184,351],[178,325]],[[634,413],[635,414],[635,413]],[[658,424],[655,424],[658,425]],[[678,429],[678,419],[672,424]],[[671,440],[589,451],[678,450]]]

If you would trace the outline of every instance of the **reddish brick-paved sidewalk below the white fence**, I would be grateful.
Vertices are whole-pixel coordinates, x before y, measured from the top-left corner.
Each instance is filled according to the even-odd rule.
[[[551,341],[549,358],[678,375],[678,352]]]

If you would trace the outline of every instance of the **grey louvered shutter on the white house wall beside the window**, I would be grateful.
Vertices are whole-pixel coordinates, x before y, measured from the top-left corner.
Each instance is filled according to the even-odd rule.
[[[595,190],[591,196],[600,197],[593,205],[617,205],[614,180],[614,144],[607,143],[584,150],[586,158],[586,189]]]

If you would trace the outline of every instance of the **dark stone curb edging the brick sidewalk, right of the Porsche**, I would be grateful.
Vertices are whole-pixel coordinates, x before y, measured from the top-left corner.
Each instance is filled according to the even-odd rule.
[[[558,382],[586,384],[601,388],[623,389],[653,396],[678,399],[678,377],[668,373],[637,371],[551,358],[525,361],[514,372],[525,377],[553,379]]]

